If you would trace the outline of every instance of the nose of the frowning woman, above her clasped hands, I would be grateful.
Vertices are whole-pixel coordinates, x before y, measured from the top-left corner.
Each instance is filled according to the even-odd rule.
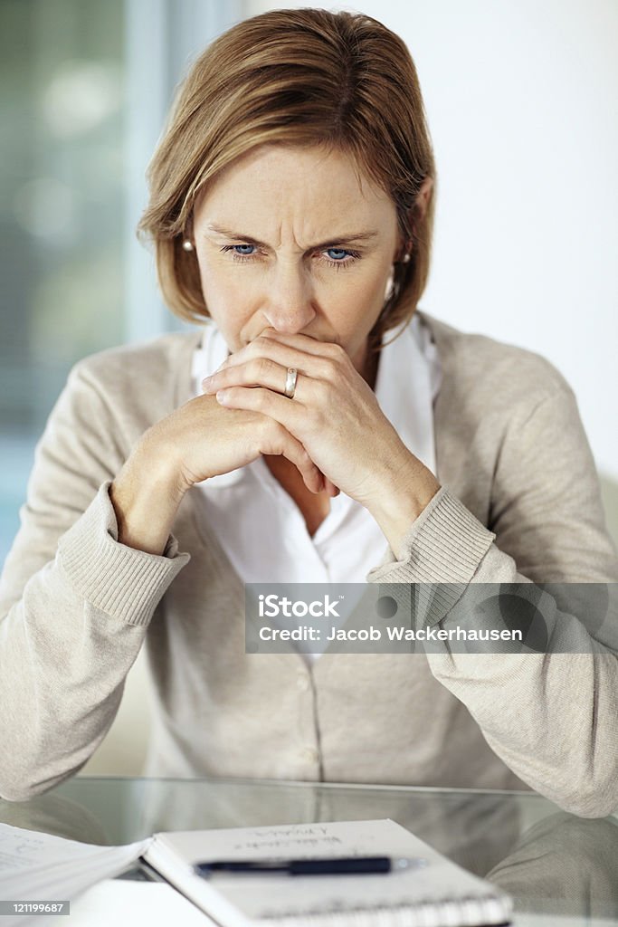
[[[315,318],[313,291],[304,267],[292,261],[280,265],[269,275],[268,287],[263,314],[276,331],[296,335]]]

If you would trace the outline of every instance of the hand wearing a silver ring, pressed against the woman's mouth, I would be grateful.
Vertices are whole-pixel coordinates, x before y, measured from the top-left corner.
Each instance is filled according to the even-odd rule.
[[[297,371],[292,400],[284,396],[288,367]],[[383,475],[419,464],[337,344],[269,328],[230,355],[202,387],[226,408],[262,413],[283,425],[325,479],[363,505],[379,494]]]

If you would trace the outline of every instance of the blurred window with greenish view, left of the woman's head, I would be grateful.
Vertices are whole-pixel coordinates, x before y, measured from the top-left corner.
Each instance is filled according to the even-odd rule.
[[[72,364],[184,327],[134,236],[145,167],[191,58],[241,12],[212,0],[0,5],[0,565]]]

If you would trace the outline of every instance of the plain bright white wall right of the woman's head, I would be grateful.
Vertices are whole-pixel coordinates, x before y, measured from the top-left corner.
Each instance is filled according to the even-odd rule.
[[[423,308],[554,362],[618,480],[616,0],[246,6],[356,9],[401,35],[439,183]]]

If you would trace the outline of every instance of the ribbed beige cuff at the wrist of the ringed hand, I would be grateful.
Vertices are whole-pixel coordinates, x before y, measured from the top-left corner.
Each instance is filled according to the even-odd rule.
[[[448,614],[472,580],[496,535],[444,487],[414,521],[402,543],[402,555],[392,552],[368,573],[368,582],[389,585],[397,601],[416,603],[425,624]],[[397,584],[416,584],[395,593]]]

